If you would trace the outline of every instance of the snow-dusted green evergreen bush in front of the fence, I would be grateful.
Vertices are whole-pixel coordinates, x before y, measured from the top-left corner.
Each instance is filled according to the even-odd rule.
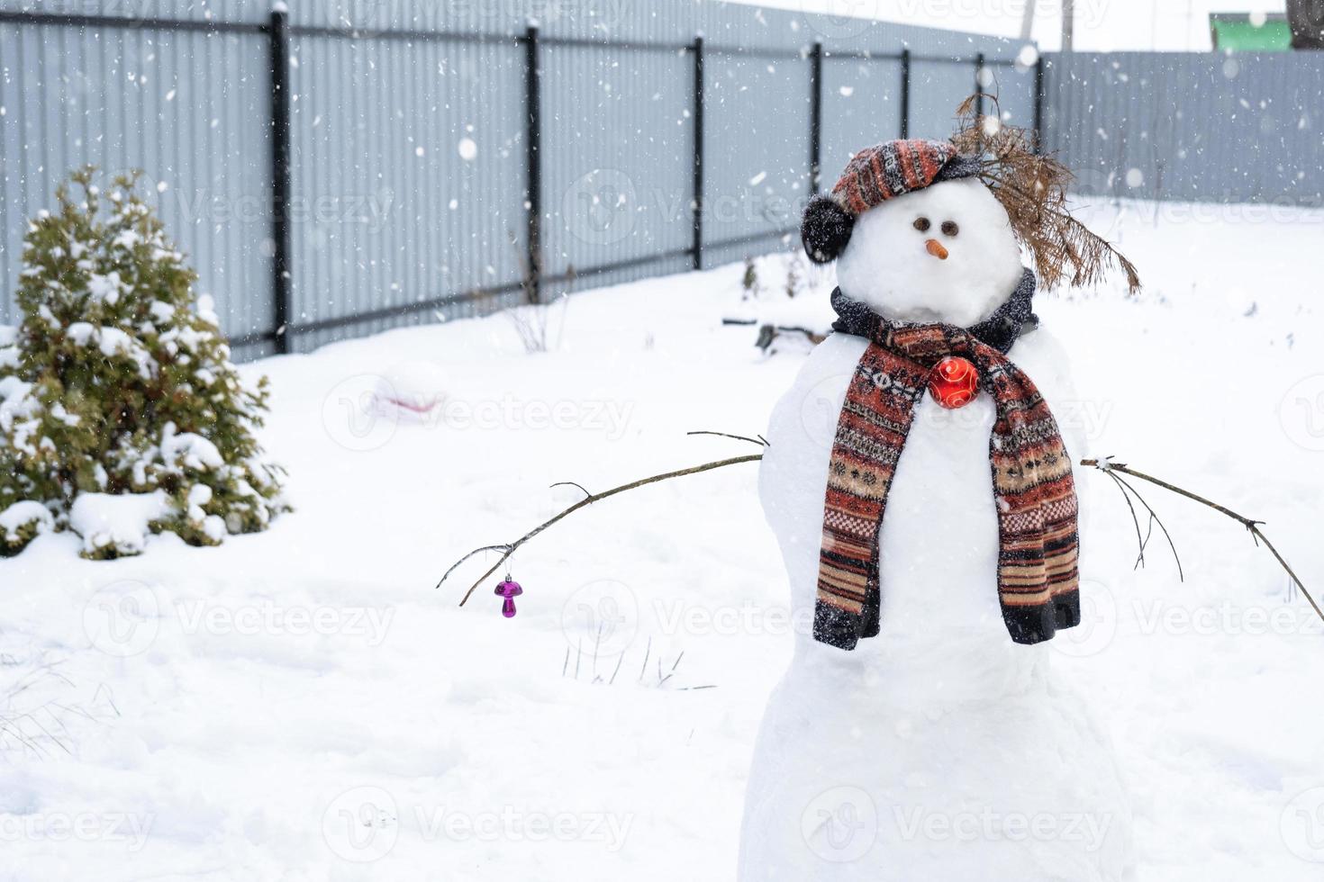
[[[283,509],[254,438],[266,378],[241,382],[135,179],[102,193],[87,168],[57,200],[28,227],[23,323],[0,331],[0,554],[46,529],[91,558],[135,554],[144,529],[263,529]]]

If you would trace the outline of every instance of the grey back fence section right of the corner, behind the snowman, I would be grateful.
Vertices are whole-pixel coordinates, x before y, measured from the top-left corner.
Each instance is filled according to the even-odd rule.
[[[1311,53],[1053,54],[1045,93],[1046,147],[1083,192],[1324,204]]]

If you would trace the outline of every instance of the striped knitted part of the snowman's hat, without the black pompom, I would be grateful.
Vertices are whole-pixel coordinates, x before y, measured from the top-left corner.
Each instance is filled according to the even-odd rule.
[[[892,197],[937,181],[970,177],[978,171],[978,159],[957,155],[952,141],[918,138],[883,141],[851,157],[831,188],[831,198],[858,217]]]

